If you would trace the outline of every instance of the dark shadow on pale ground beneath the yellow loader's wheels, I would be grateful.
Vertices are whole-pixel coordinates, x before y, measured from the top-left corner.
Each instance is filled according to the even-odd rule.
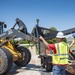
[[[36,66],[34,64],[28,64],[25,67],[18,67],[15,64],[13,64],[12,69],[7,74],[4,74],[4,75],[16,75],[16,74],[18,74],[20,72],[25,72],[27,70],[39,71],[39,69],[36,70],[35,68],[40,68],[40,67],[41,66]]]

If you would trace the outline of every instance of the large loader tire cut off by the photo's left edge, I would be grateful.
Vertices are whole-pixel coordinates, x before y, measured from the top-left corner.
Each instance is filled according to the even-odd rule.
[[[0,48],[0,75],[7,73],[13,65],[13,56],[6,48]]]

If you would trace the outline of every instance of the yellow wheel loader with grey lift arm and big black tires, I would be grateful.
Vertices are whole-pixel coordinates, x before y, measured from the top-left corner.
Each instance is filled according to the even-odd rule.
[[[15,29],[15,25],[18,25],[19,29]],[[10,30],[0,34],[0,75],[7,73],[12,68],[13,63],[22,67],[31,60],[31,53],[27,48],[11,43],[11,39],[18,37],[26,40],[31,39],[26,26],[20,19],[16,19],[15,25]]]

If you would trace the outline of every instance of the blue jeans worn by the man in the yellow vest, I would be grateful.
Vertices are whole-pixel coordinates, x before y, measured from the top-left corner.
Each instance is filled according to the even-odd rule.
[[[53,65],[53,75],[66,75],[65,68],[65,66]]]

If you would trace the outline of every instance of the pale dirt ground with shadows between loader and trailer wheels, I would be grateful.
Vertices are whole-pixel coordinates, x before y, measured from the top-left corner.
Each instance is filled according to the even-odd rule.
[[[13,64],[12,69],[5,75],[52,75],[52,72],[46,72],[44,68],[41,67],[40,59],[36,55],[35,47],[29,47],[32,54],[30,63],[25,67],[18,67]],[[70,70],[72,68],[69,68]],[[75,75],[66,72],[66,75]]]

